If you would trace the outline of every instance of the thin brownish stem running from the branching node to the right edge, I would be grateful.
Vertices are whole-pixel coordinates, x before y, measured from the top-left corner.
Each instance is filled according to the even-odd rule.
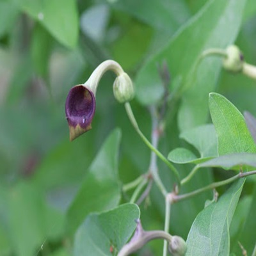
[[[243,177],[246,177],[246,176],[249,176],[249,175],[254,175],[254,174],[256,174],[256,171],[238,173],[237,175],[235,175],[235,176],[233,176],[229,179],[221,180],[219,182],[213,182],[213,183],[205,186],[204,188],[196,189],[195,191],[192,191],[192,192],[189,192],[189,193],[186,193],[186,194],[183,194],[183,195],[173,195],[172,199],[173,199],[173,202],[178,202],[180,200],[188,199],[192,196],[198,195],[198,194],[200,194],[204,191],[207,191],[209,189],[218,188],[220,186],[224,186],[224,185],[227,185],[231,182],[234,182],[237,179],[240,179],[240,178],[243,178]]]

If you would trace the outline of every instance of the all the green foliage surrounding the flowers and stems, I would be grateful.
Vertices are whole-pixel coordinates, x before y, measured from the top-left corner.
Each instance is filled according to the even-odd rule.
[[[68,91],[108,59],[134,81],[131,106],[148,140],[152,106],[164,110],[157,148],[182,184],[170,234],[184,238],[186,255],[241,255],[239,243],[252,255],[256,177],[239,170],[256,167],[256,122],[249,116],[248,129],[243,116],[256,116],[256,81],[224,70],[220,56],[198,60],[236,44],[256,65],[255,29],[255,0],[1,0],[0,256],[116,255],[134,220],[164,229],[156,182],[142,176],[138,196],[125,189],[148,172],[152,156],[116,102],[110,72],[92,130],[68,140]],[[160,159],[157,169],[172,193],[177,177]],[[211,189],[182,199],[209,184],[218,200]],[[154,240],[134,255],[162,252]]]

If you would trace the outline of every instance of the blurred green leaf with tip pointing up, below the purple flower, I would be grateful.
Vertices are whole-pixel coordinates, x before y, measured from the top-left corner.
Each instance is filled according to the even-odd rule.
[[[120,200],[118,147],[120,130],[113,131],[95,157],[67,212],[67,228],[75,232],[90,212],[115,207]]]

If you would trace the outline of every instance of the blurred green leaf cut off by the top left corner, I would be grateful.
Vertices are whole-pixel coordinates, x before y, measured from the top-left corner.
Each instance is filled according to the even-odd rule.
[[[12,1],[0,2],[0,38],[12,28],[19,10]]]

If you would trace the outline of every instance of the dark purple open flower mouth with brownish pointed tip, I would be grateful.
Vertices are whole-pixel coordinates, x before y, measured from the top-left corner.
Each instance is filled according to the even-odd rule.
[[[71,88],[65,105],[70,141],[92,129],[95,106],[95,96],[86,85]]]

